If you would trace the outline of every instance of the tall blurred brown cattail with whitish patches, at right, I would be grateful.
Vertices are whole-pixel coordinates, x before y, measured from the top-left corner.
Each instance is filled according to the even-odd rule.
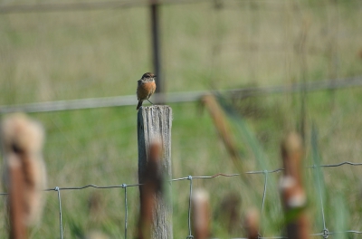
[[[310,225],[305,212],[307,197],[301,177],[302,139],[290,133],[281,144],[284,176],[281,178],[281,199],[283,202],[288,238],[310,237]]]

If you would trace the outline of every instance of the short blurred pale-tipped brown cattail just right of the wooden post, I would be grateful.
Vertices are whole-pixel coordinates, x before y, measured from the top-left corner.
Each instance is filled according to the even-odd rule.
[[[192,222],[195,239],[206,239],[210,235],[209,195],[205,190],[195,190],[192,198]]]

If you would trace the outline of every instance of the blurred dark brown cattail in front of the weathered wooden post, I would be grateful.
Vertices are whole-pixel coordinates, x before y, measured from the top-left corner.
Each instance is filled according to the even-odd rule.
[[[148,165],[142,176],[140,186],[140,215],[138,221],[138,239],[151,238],[151,225],[154,218],[157,193],[162,189],[162,175],[159,170],[161,145],[159,142],[149,146]]]

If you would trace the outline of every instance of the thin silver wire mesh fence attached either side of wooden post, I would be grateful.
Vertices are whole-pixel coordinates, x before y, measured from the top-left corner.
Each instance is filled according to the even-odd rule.
[[[338,164],[327,164],[327,165],[311,165],[309,167],[306,168],[310,168],[310,169],[315,169],[315,168],[324,168],[324,167],[341,167],[341,166],[345,166],[345,165],[349,165],[349,166],[362,166],[362,163],[353,163],[353,162],[348,162],[348,161],[344,161]],[[274,173],[279,173],[281,171],[283,171],[283,168],[277,168],[277,169],[273,169],[273,170],[259,170],[259,171],[248,171],[245,172],[244,174],[246,175],[263,175],[264,176],[264,186],[263,186],[263,192],[262,192],[262,205],[261,205],[261,217],[265,216],[263,215],[263,208],[264,208],[264,203],[265,203],[265,198],[266,198],[266,192],[268,190],[268,175],[270,174],[274,174]],[[179,178],[174,178],[171,179],[170,181],[172,182],[179,182],[179,181],[189,181],[189,195],[188,195],[188,218],[187,218],[187,226],[188,226],[188,235],[186,236],[186,238],[194,238],[193,234],[192,234],[192,228],[191,228],[191,197],[193,195],[193,180],[195,179],[214,179],[216,177],[238,177],[241,176],[241,174],[224,174],[224,173],[218,173],[215,174],[213,176],[187,176],[187,177],[179,177]],[[49,189],[45,189],[44,191],[54,191],[57,193],[58,196],[58,203],[59,203],[59,229],[60,229],[60,236],[61,239],[64,238],[63,235],[63,223],[62,223],[62,197],[61,197],[61,191],[66,191],[66,190],[83,190],[86,188],[96,188],[96,189],[112,189],[112,188],[122,188],[124,190],[124,209],[125,209],[125,224],[124,224],[124,238],[128,238],[128,220],[129,220],[129,204],[128,204],[128,195],[127,195],[127,189],[129,187],[138,187],[141,186],[141,184],[121,184],[121,185],[114,185],[114,186],[96,186],[96,185],[86,185],[86,186],[70,186],[70,187],[60,187],[60,186],[55,186],[54,188],[49,188]],[[322,215],[322,223],[323,223],[323,229],[321,230],[320,233],[312,233],[310,234],[310,236],[321,236],[323,238],[328,238],[329,235],[331,234],[362,234],[361,231],[357,231],[357,230],[347,230],[347,231],[343,231],[343,232],[329,232],[328,226],[326,224],[326,220],[325,220],[325,214],[324,214],[324,206],[323,206],[323,202],[322,202],[322,195],[321,195],[321,188],[320,188],[320,184],[318,184],[318,192],[319,192],[319,196],[320,196],[320,200],[321,200],[321,208],[320,208],[320,214]],[[7,196],[7,193],[0,193],[0,196]],[[269,235],[264,235],[264,234],[260,234],[259,238],[265,238],[265,239],[273,239],[273,238],[288,238],[285,237],[283,235],[274,235],[274,236],[269,236]],[[247,239],[244,237],[233,237],[233,239]]]

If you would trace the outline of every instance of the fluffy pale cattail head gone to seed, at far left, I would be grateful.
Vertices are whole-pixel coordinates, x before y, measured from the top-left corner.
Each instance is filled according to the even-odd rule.
[[[16,196],[21,197],[20,218],[26,226],[38,223],[43,211],[41,191],[46,186],[45,165],[42,158],[43,139],[43,127],[24,114],[8,116],[1,124],[5,161],[3,179],[4,186],[10,194],[10,214],[12,214],[12,192],[16,190]],[[12,173],[19,175],[14,176]],[[19,180],[21,182],[17,182]],[[23,188],[14,188],[15,184]]]

